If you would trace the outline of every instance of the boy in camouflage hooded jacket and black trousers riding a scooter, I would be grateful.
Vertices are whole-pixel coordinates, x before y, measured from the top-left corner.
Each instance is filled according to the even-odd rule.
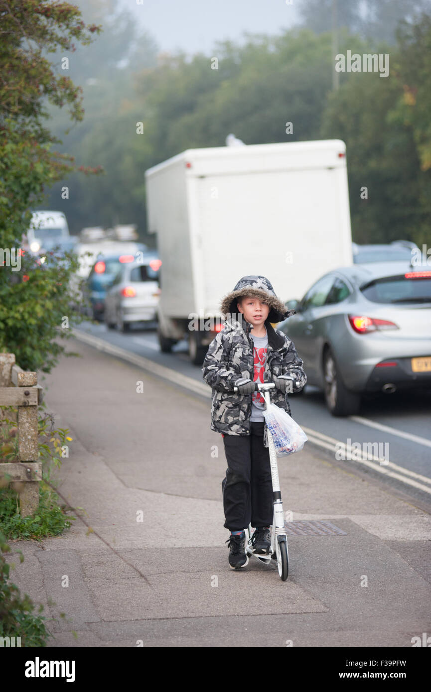
[[[267,278],[243,276],[222,299],[220,312],[227,319],[209,345],[202,376],[212,388],[211,430],[221,432],[225,444],[224,526],[231,532],[226,543],[229,565],[235,570],[248,564],[245,527],[256,527],[255,552],[267,553],[271,540],[272,477],[262,413],[265,402],[262,394],[254,392],[254,382],[274,382],[272,403],[291,415],[286,392],[301,390],[307,378],[292,340],[270,324],[294,310],[285,309]]]

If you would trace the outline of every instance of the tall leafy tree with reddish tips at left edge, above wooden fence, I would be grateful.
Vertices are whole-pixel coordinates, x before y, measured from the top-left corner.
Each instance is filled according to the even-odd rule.
[[[57,255],[37,264],[21,255],[21,236],[45,187],[76,170],[73,157],[52,151],[58,140],[44,127],[46,102],[69,104],[76,121],[83,111],[79,87],[55,73],[42,52],[71,50],[73,39],[87,45],[100,27],[86,26],[66,2],[0,0],[0,16],[0,348],[24,369],[49,372],[64,350],[55,336],[70,334],[62,318],[70,313],[76,264],[70,256],[59,264]]]

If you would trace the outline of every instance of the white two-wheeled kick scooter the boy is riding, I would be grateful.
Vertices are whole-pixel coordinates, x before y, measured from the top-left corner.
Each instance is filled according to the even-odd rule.
[[[299,384],[299,383],[298,383]],[[255,382],[254,391],[263,392],[263,398],[265,399],[266,408],[271,403],[270,400],[270,389],[274,389],[274,382]],[[238,392],[238,387],[234,387],[234,392]],[[270,565],[271,560],[276,560],[279,567],[279,575],[282,581],[288,579],[289,573],[289,553],[288,553],[288,537],[285,533],[284,528],[284,513],[283,513],[283,502],[281,502],[281,492],[280,492],[280,482],[279,482],[279,467],[277,466],[277,455],[272,440],[272,435],[270,430],[267,430],[268,435],[268,445],[270,448],[270,464],[271,464],[271,475],[272,475],[272,501],[274,504],[274,517],[272,520],[271,527],[271,546],[269,552],[265,555],[262,553],[254,552],[254,549],[250,545],[250,540],[252,534],[254,534],[254,529],[252,525],[249,524],[245,530],[245,552],[247,555],[254,555],[255,558],[265,563],[265,565]]]

